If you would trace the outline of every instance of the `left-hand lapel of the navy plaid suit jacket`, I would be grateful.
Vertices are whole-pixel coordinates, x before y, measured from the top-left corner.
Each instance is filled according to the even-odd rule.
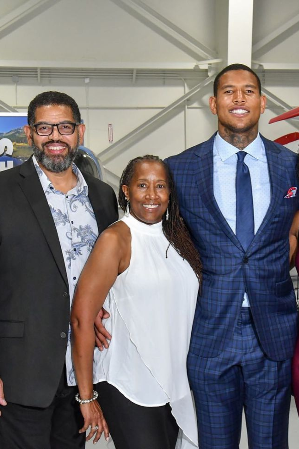
[[[241,243],[233,233],[230,225],[222,215],[221,210],[216,202],[213,188],[213,142],[215,134],[209,139],[199,151],[195,151],[198,156],[198,164],[195,167],[195,177],[199,189],[199,195],[205,203],[208,211],[217,221],[223,232],[240,250],[243,250]]]

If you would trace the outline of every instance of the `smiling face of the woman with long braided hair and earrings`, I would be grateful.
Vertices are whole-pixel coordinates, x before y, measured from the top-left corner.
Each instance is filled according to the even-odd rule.
[[[122,190],[130,201],[130,214],[137,220],[147,225],[162,220],[170,191],[165,168],[160,162],[136,163],[130,185],[123,185]]]

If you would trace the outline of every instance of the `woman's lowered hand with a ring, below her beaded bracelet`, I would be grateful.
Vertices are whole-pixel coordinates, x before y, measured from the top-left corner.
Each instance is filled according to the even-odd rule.
[[[102,432],[104,432],[105,440],[108,441],[109,429],[98,401],[80,404],[80,410],[84,418],[84,426],[79,430],[79,433],[86,432],[88,427],[91,426],[91,431],[87,435],[86,441],[91,440],[95,435],[93,443],[97,443]]]

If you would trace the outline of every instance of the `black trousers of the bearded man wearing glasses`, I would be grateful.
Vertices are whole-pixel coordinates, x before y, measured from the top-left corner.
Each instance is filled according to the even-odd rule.
[[[79,435],[83,418],[75,401],[77,387],[68,387],[65,368],[56,396],[49,407],[0,406],[1,449],[81,449],[85,433]],[[5,385],[4,385],[5,393]]]

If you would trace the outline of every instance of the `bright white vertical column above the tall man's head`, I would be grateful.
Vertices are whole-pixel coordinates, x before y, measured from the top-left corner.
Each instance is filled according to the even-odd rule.
[[[229,0],[227,64],[251,67],[253,0]]]

